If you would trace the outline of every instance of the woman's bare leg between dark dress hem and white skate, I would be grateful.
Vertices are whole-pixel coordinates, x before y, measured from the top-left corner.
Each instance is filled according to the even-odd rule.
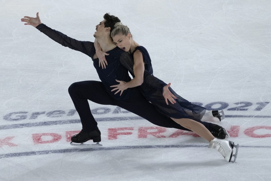
[[[215,138],[211,134],[211,132],[205,126],[203,126],[203,124],[201,124],[195,120],[188,119],[188,118],[182,118],[182,119],[171,118],[171,119],[174,120],[179,125],[187,128],[187,129],[190,129],[194,133],[196,133],[199,136],[201,136],[202,138],[206,139],[208,142],[210,142],[211,140],[213,140]]]

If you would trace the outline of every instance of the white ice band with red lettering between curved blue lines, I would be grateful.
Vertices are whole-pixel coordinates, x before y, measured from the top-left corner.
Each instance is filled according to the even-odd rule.
[[[116,121],[115,118],[112,118],[115,121],[111,121],[109,127],[108,122],[100,122],[99,125],[103,130],[103,147],[94,147],[92,149],[86,147],[79,147],[78,149],[71,148],[68,144],[70,143],[70,137],[80,132],[80,126],[78,126],[80,120],[78,120],[78,124],[75,125],[66,124],[67,126],[62,126],[63,124],[60,124],[58,126],[51,126],[53,124],[49,124],[47,127],[43,125],[35,127],[35,129],[25,127],[16,129],[17,131],[20,130],[17,133],[6,129],[2,131],[3,135],[0,137],[0,147],[8,148],[8,150],[2,150],[0,158],[50,153],[70,153],[76,152],[77,150],[98,151],[162,147],[204,147],[200,145],[201,140],[200,138],[197,138],[199,136],[193,132],[154,127],[145,120],[137,120],[136,118],[137,117],[134,117],[134,120],[132,121],[127,121],[127,117],[121,118],[126,121]],[[106,120],[110,118],[103,119]],[[255,124],[243,125],[239,119],[236,118],[235,122],[234,125],[225,127],[230,134],[231,141],[236,144],[242,144],[240,147],[244,148],[271,148],[267,141],[269,137],[271,137],[271,134],[268,134],[271,130],[271,126],[268,126],[269,124],[266,126],[255,126]],[[138,127],[138,125],[142,127]],[[75,130],[75,127],[78,129],[77,131]],[[127,137],[127,135],[129,136]],[[22,136],[24,139],[22,139]],[[259,143],[259,141],[264,141],[265,143],[263,142],[263,145],[258,145],[257,143]],[[142,142],[149,146],[139,146],[142,145]],[[180,142],[183,142],[182,145],[180,145]],[[195,144],[197,142],[198,144]],[[190,145],[191,143],[193,145]],[[124,147],[116,147],[118,144]],[[51,150],[49,148],[51,148]],[[22,152],[22,149],[24,152]]]

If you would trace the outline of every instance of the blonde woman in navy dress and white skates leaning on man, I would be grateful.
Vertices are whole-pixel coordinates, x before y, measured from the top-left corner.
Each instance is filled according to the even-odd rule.
[[[154,77],[150,56],[147,50],[132,39],[132,34],[127,26],[116,23],[114,27],[111,32],[114,43],[122,50],[129,52],[134,62],[121,60],[121,64],[129,70],[133,79],[129,82],[116,80],[119,84],[110,86],[113,88],[112,91],[117,90],[116,93],[120,92],[121,95],[127,88],[139,86],[139,90],[143,96],[154,104],[159,112],[206,139],[210,143],[209,148],[214,148],[219,151],[226,161],[231,161],[233,147],[236,147],[235,155],[233,155],[236,159],[238,145],[234,145],[233,142],[227,140],[216,139],[207,128],[195,121],[202,119],[206,108],[191,104],[175,93],[169,87],[170,83],[167,85],[162,80]],[[96,53],[97,50],[101,50],[97,42],[94,42],[94,46]],[[106,53],[100,52],[99,59],[102,60],[101,55],[106,55]],[[106,62],[101,61],[102,66],[106,68],[104,63]],[[168,103],[168,100],[170,103]]]

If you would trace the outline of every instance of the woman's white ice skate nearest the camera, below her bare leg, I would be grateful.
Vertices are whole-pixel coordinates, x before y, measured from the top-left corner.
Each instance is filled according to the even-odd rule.
[[[236,148],[235,154],[233,153],[233,147]],[[234,156],[234,160],[231,161],[232,163],[235,162],[237,153],[238,153],[239,144],[234,145],[234,142],[223,140],[223,139],[213,139],[209,144],[209,148],[214,148],[215,150],[219,151],[221,155],[225,158],[226,161],[230,162],[232,156]]]

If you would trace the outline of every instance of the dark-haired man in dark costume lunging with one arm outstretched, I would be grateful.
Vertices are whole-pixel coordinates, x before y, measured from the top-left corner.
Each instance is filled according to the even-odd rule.
[[[106,57],[108,62],[106,69],[99,67],[99,59],[96,55],[93,42],[78,41],[47,27],[41,23],[39,13],[37,13],[36,18],[25,16],[21,19],[21,21],[26,22],[25,25],[36,27],[39,31],[49,36],[49,38],[57,43],[60,43],[62,46],[69,47],[88,55],[92,58],[94,68],[99,75],[101,82],[92,80],[75,82],[70,85],[68,89],[82,123],[81,132],[72,136],[71,141],[75,143],[83,143],[90,139],[92,139],[93,142],[101,141],[101,132],[98,129],[97,122],[89,108],[88,99],[97,104],[119,106],[158,126],[190,131],[174,122],[171,118],[167,118],[165,115],[158,112],[153,104],[148,102],[142,96],[138,88],[126,89],[122,92],[121,96],[120,93],[115,94],[116,91],[111,91],[112,88],[110,88],[110,86],[116,85],[116,80],[123,80],[125,82],[131,80],[128,70],[120,63],[121,58],[131,59],[131,57],[128,52],[118,48],[110,37],[110,33],[113,30],[115,23],[120,22],[118,17],[106,13],[103,18],[104,20],[96,26],[94,37],[97,38],[102,51],[109,54]],[[225,139],[226,131],[224,128],[208,122],[201,123],[215,137]]]

